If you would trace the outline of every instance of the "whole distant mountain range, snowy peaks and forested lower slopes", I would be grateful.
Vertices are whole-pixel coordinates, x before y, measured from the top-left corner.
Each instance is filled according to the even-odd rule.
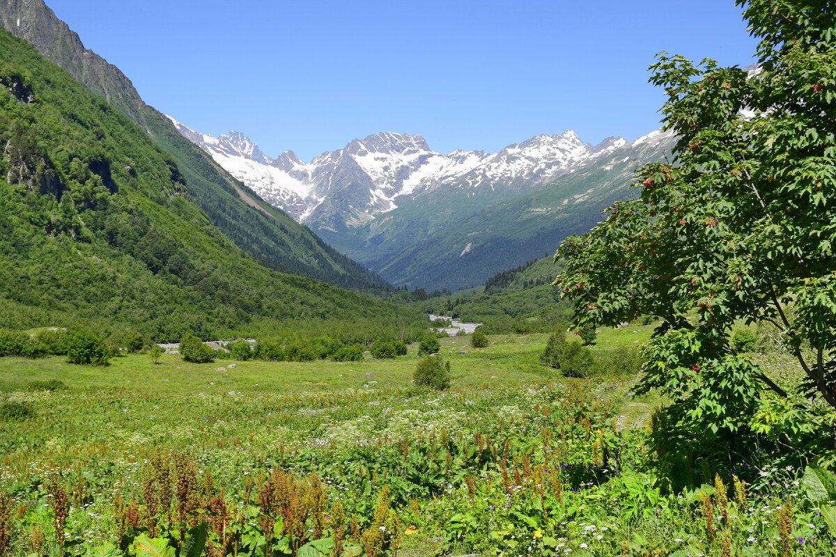
[[[495,154],[441,154],[421,135],[383,132],[306,163],[293,151],[271,159],[241,132],[216,138],[169,118],[339,251],[393,284],[429,289],[479,284],[554,251],[566,235],[594,225],[604,205],[630,195],[634,170],[673,144],[660,130],[596,145],[569,130]]]

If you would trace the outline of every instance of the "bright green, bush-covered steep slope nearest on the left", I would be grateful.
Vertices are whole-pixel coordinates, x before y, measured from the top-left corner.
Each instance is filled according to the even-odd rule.
[[[0,327],[81,321],[163,341],[325,320],[420,316],[257,264],[143,129],[0,30]]]

